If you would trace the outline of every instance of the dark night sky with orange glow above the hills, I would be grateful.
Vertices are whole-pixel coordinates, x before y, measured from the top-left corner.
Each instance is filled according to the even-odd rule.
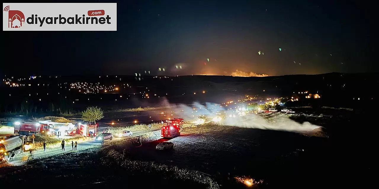
[[[121,0],[117,31],[3,31],[8,48],[0,72],[126,75],[157,74],[159,67],[170,75],[230,75],[237,69],[269,75],[378,71],[373,7],[331,0]]]

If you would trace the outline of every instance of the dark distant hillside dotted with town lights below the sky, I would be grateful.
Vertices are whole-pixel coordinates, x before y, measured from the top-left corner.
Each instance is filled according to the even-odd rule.
[[[16,82],[20,87],[10,87],[9,84],[2,82],[0,113],[17,112],[18,115],[26,115],[27,112],[75,113],[89,105],[111,108],[146,107],[164,105],[162,104],[164,99],[173,103],[193,101],[219,103],[241,99],[246,95],[257,99],[294,96],[300,100],[291,105],[312,105],[311,99],[304,100],[307,96],[304,94],[305,91],[321,96],[321,99],[316,101],[318,106],[346,108],[355,107],[356,104],[374,106],[373,103],[378,99],[377,75],[379,74],[326,73],[266,77],[38,76],[35,79],[29,79],[30,76],[7,75],[8,79],[13,77],[9,84]],[[74,86],[72,83],[76,88],[72,87]],[[85,93],[84,88],[88,85],[92,85],[92,89],[96,91]],[[103,87],[117,87],[117,90],[105,91]],[[97,91],[97,88],[101,90]]]

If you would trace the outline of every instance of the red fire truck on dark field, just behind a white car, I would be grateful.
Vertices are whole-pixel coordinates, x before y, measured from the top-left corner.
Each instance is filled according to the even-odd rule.
[[[164,138],[179,136],[183,124],[183,118],[166,119],[164,125],[161,127],[161,136]]]

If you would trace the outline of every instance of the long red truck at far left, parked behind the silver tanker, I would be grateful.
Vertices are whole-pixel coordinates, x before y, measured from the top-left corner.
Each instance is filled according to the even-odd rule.
[[[55,135],[55,131],[52,127],[47,124],[41,124],[39,122],[14,122],[14,133],[18,133],[19,135],[45,135],[45,136],[53,136]]]

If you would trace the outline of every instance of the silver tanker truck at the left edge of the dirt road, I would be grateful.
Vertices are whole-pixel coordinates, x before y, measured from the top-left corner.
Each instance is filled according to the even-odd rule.
[[[16,154],[33,149],[33,137],[7,135],[0,137],[0,162],[10,161]]]

